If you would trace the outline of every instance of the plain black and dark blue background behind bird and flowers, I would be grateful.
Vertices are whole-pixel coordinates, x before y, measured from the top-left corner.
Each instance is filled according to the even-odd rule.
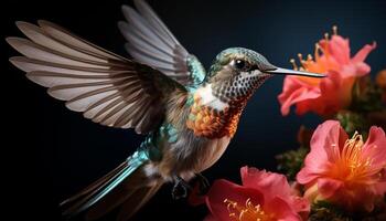
[[[350,36],[352,51],[377,41],[367,59],[373,72],[386,67],[386,1],[277,1],[277,0],[149,0],[150,4],[191,53],[207,67],[229,46],[245,46],[272,64],[290,67],[298,52],[313,53],[314,43],[333,24]],[[21,35],[14,21],[45,19],[118,54],[125,40],[116,24],[124,17],[110,1],[2,1],[3,36]],[[61,220],[57,203],[125,160],[143,137],[131,130],[99,126],[64,107],[29,82],[8,63],[17,53],[1,41],[2,200],[11,217],[6,220]],[[269,80],[251,98],[239,129],[223,158],[204,172],[211,181],[239,179],[244,165],[275,170],[275,155],[297,147],[301,124],[315,126],[313,115],[282,117],[277,96],[282,77]],[[202,220],[205,207],[173,201],[165,186],[135,220]],[[114,214],[107,217],[111,220]]]

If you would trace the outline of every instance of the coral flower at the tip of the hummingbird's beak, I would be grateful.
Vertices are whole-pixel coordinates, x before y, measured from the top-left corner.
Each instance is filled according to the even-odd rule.
[[[317,43],[314,60],[309,55],[304,61],[299,54],[302,65],[299,70],[324,73],[328,77],[286,76],[278,96],[282,115],[288,115],[292,105],[297,106],[298,115],[314,112],[321,116],[335,114],[350,105],[355,78],[369,73],[371,67],[364,60],[376,44],[366,44],[351,57],[349,39],[337,35],[336,29],[334,33],[331,40],[326,34]],[[291,62],[298,69],[294,61]]]

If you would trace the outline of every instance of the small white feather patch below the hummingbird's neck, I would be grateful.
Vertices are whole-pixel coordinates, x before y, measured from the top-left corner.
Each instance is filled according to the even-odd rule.
[[[194,95],[201,99],[201,104],[204,106],[212,107],[216,110],[224,110],[229,107],[225,102],[213,95],[212,84],[207,84],[205,87],[199,88]]]

